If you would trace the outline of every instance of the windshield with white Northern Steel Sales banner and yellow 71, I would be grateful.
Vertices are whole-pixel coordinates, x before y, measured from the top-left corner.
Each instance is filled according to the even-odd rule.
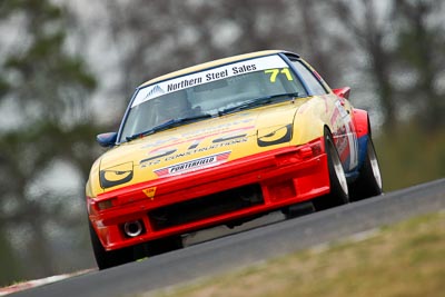
[[[120,141],[170,128],[169,123],[177,127],[305,96],[279,56],[235,62],[138,89]]]

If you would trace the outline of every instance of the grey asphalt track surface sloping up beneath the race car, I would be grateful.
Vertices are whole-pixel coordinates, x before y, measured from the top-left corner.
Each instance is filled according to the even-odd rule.
[[[445,179],[91,271],[8,296],[134,296],[445,209]]]

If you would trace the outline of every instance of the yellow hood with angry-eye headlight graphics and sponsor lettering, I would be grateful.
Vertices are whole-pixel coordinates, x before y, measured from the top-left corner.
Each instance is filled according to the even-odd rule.
[[[301,102],[211,118],[122,143],[100,158],[102,189],[210,168],[289,146]]]

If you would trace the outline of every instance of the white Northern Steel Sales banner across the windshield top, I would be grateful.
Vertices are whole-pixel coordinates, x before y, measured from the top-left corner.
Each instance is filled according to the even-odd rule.
[[[267,56],[240,62],[235,62],[209,70],[191,73],[188,76],[174,78],[170,80],[161,81],[155,86],[148,86],[139,90],[131,108],[164,93],[179,91],[190,87],[196,87],[211,81],[236,77],[254,71],[261,71],[266,69],[286,69],[289,66],[279,56]],[[281,70],[285,71],[286,70]]]

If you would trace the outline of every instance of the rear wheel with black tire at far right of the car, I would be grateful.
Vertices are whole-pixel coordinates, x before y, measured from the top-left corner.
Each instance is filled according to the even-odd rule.
[[[358,178],[350,187],[352,200],[357,201],[373,196],[382,195],[382,175],[377,155],[370,137],[366,145],[366,157],[359,170]]]

